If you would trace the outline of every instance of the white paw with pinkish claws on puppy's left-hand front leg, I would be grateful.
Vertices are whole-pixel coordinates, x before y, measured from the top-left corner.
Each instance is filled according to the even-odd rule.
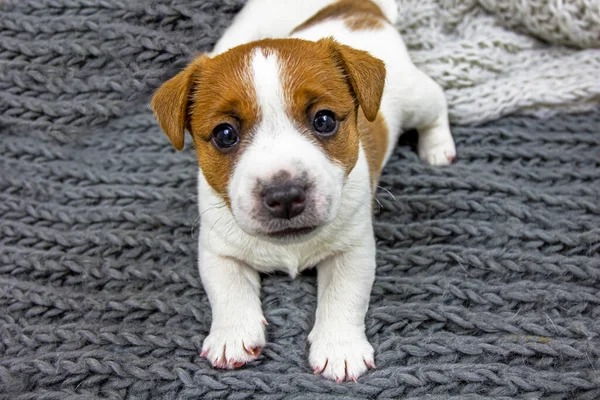
[[[266,321],[211,326],[202,344],[202,357],[216,368],[234,369],[256,360],[265,345]]]

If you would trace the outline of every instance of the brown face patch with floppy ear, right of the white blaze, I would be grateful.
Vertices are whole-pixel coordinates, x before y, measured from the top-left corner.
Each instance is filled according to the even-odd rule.
[[[277,55],[288,114],[348,175],[358,160],[357,113],[366,120],[377,116],[385,82],[383,63],[331,39],[263,40],[259,44]],[[323,110],[332,111],[339,121],[338,131],[330,137],[313,130],[314,117]]]

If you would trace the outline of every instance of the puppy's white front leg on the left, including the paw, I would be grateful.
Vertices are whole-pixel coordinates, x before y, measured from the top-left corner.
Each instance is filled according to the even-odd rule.
[[[265,345],[260,277],[252,268],[200,249],[200,276],[212,308],[202,356],[217,368],[238,368]]]

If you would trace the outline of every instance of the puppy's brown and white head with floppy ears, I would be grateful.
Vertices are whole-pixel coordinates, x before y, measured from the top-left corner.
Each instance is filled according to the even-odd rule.
[[[193,138],[208,184],[248,234],[301,237],[333,221],[376,118],[383,62],[332,39],[263,40],[201,56],[152,99],[178,150]]]

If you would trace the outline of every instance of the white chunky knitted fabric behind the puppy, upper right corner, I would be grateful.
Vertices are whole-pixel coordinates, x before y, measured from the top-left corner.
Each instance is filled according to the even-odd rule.
[[[397,26],[454,123],[600,102],[600,0],[397,1]]]

